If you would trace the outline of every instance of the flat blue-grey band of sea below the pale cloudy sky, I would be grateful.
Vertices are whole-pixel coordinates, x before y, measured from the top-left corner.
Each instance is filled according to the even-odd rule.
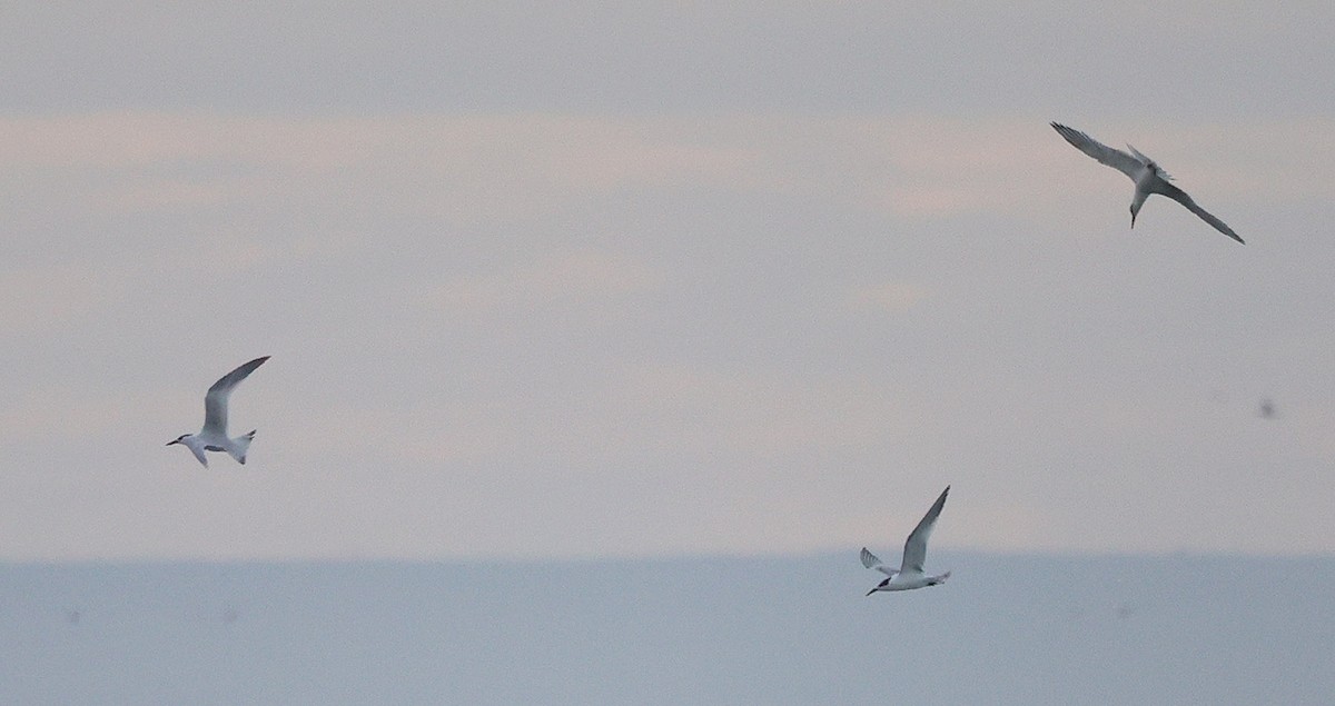
[[[1324,705],[1335,559],[0,565],[8,703]]]

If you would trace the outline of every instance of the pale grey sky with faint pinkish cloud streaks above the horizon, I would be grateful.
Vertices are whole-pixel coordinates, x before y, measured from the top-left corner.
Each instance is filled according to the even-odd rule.
[[[0,559],[1335,550],[1330,3],[194,5],[0,11]]]

